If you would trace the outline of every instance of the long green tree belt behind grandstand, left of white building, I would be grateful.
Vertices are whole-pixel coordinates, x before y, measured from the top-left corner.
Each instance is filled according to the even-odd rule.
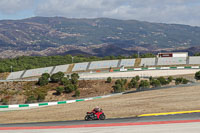
[[[11,71],[21,71],[28,69],[35,69],[48,66],[57,66],[63,64],[79,63],[79,62],[90,62],[98,60],[114,60],[114,59],[128,59],[128,58],[137,58],[137,54],[132,56],[105,56],[105,57],[96,57],[89,56],[85,57],[83,55],[71,56],[21,56],[13,59],[0,59],[0,73],[2,72],[11,72]],[[140,57],[148,58],[155,57],[154,54],[146,53],[141,54]]]

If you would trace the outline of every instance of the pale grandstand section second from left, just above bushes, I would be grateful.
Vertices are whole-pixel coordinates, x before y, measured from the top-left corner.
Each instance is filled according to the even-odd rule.
[[[42,75],[43,73],[51,73],[53,67],[45,67],[45,68],[37,68],[37,69],[30,69],[27,70],[22,78],[27,77],[37,77]]]

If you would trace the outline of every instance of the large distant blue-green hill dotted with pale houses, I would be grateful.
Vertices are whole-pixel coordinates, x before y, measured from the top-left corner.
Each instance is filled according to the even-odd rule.
[[[136,51],[190,49],[199,45],[200,27],[188,25],[63,17],[0,21],[1,58],[73,54],[73,51],[96,56],[126,55]],[[85,51],[85,48],[91,50]],[[52,52],[47,52],[49,49]]]

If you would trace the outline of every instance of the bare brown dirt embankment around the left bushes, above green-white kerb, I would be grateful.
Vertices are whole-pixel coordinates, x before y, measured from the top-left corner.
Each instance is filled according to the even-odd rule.
[[[81,80],[78,85],[78,90],[80,91],[80,97],[78,98],[110,94],[113,92],[112,86],[114,82],[114,80],[112,83],[106,83],[105,80]],[[0,104],[25,103],[27,99],[26,90],[34,90],[40,87],[36,83],[37,82],[0,82]],[[77,97],[73,97],[74,92],[56,95],[55,89],[58,86],[61,85],[58,83],[49,83],[45,86],[45,89],[48,89],[48,93],[43,102],[77,99]]]

